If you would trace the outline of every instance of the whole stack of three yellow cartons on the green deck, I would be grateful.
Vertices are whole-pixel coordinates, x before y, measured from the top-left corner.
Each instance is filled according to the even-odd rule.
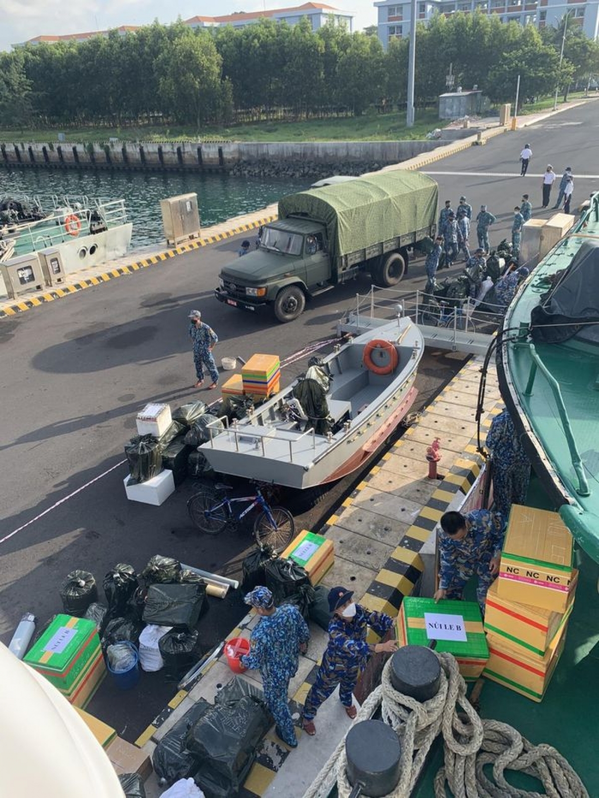
[[[514,504],[486,600],[487,678],[541,701],[564,648],[577,576],[560,516]]]

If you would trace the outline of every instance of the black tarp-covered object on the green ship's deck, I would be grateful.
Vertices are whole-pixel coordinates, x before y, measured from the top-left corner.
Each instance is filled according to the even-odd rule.
[[[599,344],[599,243],[585,242],[530,314],[535,343]]]

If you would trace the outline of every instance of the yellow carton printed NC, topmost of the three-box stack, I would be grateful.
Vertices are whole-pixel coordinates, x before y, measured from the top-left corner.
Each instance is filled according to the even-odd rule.
[[[573,537],[556,512],[513,504],[499,565],[502,599],[564,613],[573,578]]]

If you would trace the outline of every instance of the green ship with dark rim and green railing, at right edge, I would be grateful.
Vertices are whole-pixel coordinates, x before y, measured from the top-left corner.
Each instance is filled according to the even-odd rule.
[[[574,538],[599,562],[595,281],[599,281],[599,192],[514,298],[498,341],[497,360],[502,397],[535,472]]]

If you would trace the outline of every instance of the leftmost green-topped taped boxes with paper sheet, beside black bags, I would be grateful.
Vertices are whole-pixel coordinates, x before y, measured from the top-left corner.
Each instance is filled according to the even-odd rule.
[[[72,615],[57,615],[24,661],[81,708],[106,675],[95,622]]]

